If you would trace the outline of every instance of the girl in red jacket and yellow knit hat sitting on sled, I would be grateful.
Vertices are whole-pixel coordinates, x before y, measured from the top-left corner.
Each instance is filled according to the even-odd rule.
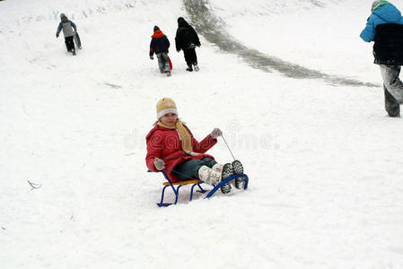
[[[217,137],[223,133],[215,128],[200,143],[178,118],[176,104],[170,98],[162,98],[157,103],[157,122],[146,136],[148,169],[154,172],[164,170],[171,182],[190,178],[199,178],[209,185],[217,185],[234,174],[243,173],[240,161],[220,164],[206,152],[217,143]],[[231,182],[242,188],[243,178]],[[229,183],[221,187],[226,194],[231,190]]]

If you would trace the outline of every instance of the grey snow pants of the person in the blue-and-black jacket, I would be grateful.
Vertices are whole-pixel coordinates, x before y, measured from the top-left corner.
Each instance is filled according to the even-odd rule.
[[[390,117],[400,117],[403,103],[403,82],[399,79],[400,66],[380,65],[385,92],[385,109]]]

